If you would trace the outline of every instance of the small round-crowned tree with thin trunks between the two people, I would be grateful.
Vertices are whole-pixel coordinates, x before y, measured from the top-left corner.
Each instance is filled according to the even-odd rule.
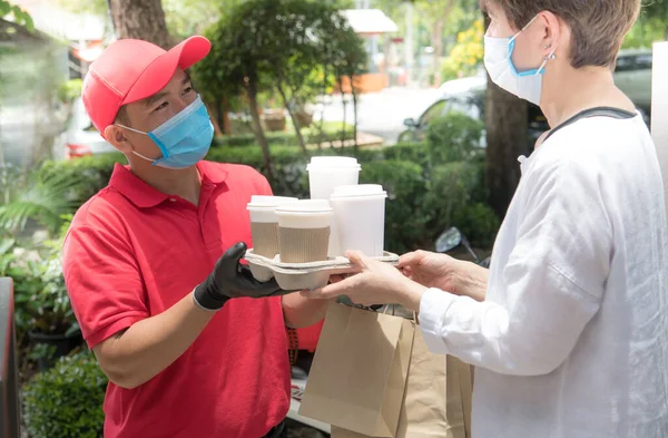
[[[258,95],[276,94],[293,116],[302,147],[296,111],[341,76],[363,71],[366,53],[343,16],[330,3],[308,0],[242,2],[205,35],[212,53],[194,68],[205,99],[218,106],[243,96],[254,119],[257,142],[265,149]]]

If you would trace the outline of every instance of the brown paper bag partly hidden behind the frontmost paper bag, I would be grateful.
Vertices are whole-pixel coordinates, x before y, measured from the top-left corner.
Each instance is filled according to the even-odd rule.
[[[471,367],[431,353],[415,330],[396,438],[469,438],[471,391]],[[367,437],[332,427],[332,438]]]

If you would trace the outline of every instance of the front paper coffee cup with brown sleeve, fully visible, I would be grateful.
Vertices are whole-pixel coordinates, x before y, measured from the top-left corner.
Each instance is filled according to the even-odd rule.
[[[276,210],[281,262],[310,263],[327,260],[332,207],[324,199],[298,201]]]

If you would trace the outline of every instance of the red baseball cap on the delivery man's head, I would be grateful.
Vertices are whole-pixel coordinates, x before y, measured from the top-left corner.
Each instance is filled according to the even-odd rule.
[[[81,98],[88,117],[104,137],[121,106],[155,95],[177,67],[187,69],[210,48],[204,37],[190,37],[169,50],[138,39],[115,41],[90,65],[84,79]]]

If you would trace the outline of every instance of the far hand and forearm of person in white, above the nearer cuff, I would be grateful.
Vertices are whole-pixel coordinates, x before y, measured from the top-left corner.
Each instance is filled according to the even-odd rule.
[[[489,271],[450,255],[415,251],[402,255],[397,266],[409,279],[455,295],[484,301]]]

